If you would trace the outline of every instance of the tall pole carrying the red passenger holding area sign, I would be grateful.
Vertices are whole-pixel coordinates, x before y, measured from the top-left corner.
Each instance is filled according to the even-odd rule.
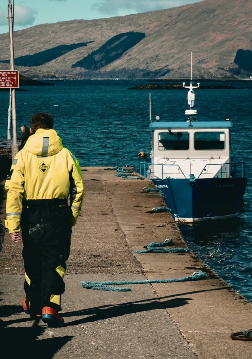
[[[13,16],[12,16],[12,5],[9,0],[9,34],[10,34],[10,70],[14,71],[14,44],[13,44]],[[11,108],[12,108],[12,128],[13,128],[13,145],[11,147],[11,156],[14,159],[18,153],[18,144],[16,137],[16,97],[15,89],[11,90]]]

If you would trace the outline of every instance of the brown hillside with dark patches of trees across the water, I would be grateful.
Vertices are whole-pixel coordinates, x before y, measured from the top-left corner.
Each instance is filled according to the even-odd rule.
[[[15,69],[37,79],[188,78],[192,52],[194,78],[247,77],[252,75],[251,15],[251,0],[205,0],[124,17],[37,25],[14,32],[15,58],[29,60]],[[131,34],[126,47],[125,33]],[[9,60],[9,34],[1,34],[0,42],[0,61]],[[8,68],[0,62],[0,69]]]

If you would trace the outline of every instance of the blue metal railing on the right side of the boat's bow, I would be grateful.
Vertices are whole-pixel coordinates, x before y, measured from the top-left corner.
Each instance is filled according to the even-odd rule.
[[[210,166],[219,166],[218,172],[209,172]],[[210,169],[211,171],[211,169]],[[204,173],[206,172],[206,173]],[[227,162],[227,163],[208,163],[205,165],[203,170],[200,172],[198,178],[203,177],[206,174],[209,177],[209,174],[215,174],[214,177],[217,178],[227,178],[227,177],[245,177],[245,165],[244,162]]]

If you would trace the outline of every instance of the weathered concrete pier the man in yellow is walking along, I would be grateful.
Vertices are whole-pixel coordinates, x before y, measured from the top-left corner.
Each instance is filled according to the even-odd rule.
[[[252,327],[252,304],[192,252],[141,253],[172,238],[187,245],[150,180],[115,177],[103,167],[82,168],[85,197],[73,228],[62,295],[63,328],[47,328],[22,311],[22,244],[4,229],[1,206],[1,338],[9,358],[248,359],[251,341],[230,339]],[[3,186],[4,182],[1,182]],[[5,196],[3,187],[2,195]],[[81,287],[86,281],[176,279],[205,271],[206,279],[127,285],[131,292]],[[8,353],[6,351],[6,353]],[[22,356],[23,355],[23,356]]]

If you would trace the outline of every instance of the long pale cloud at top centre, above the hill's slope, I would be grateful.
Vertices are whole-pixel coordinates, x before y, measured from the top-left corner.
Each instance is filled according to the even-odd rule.
[[[91,9],[106,15],[120,14],[121,11],[145,13],[146,11],[174,8],[199,1],[202,0],[99,0],[92,5]]]

